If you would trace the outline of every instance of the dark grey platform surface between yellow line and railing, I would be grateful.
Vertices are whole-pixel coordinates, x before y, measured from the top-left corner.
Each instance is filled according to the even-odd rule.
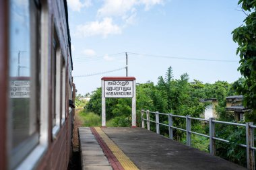
[[[245,169],[143,128],[102,128],[139,169]]]

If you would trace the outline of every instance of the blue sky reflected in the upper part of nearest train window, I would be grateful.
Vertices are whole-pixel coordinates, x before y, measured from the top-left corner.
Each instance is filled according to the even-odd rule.
[[[10,69],[11,77],[30,76],[30,16],[28,1],[11,1],[10,19]],[[20,65],[18,56],[20,52]],[[20,66],[20,69],[19,69]],[[19,72],[20,71],[20,75]]]

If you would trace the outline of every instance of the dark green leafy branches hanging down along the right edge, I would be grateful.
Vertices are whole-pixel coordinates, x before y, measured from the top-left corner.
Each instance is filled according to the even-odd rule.
[[[238,93],[243,94],[243,104],[252,109],[246,115],[247,121],[256,120],[256,1],[240,0],[238,4],[244,12],[248,12],[244,24],[236,28],[233,40],[238,44],[236,54],[240,56],[241,72],[245,81],[235,86]]]

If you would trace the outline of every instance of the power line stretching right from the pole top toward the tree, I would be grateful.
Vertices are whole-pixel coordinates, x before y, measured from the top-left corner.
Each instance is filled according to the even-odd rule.
[[[217,60],[217,59],[205,59],[205,58],[188,58],[188,57],[177,57],[177,56],[161,56],[154,54],[140,54],[135,52],[127,52],[128,54],[135,54],[141,56],[152,56],[152,57],[160,57],[160,58],[172,58],[172,59],[180,59],[180,60],[201,60],[201,61],[214,61],[214,62],[239,62],[238,60]]]

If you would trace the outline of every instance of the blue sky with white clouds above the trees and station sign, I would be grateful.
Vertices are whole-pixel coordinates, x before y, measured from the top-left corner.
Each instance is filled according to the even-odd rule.
[[[77,93],[94,91],[101,77],[125,76],[125,69],[104,73],[125,67],[125,52],[137,83],[157,83],[170,66],[174,79],[188,73],[190,81],[236,81],[241,74],[231,32],[245,19],[237,2],[68,0]],[[102,74],[88,76],[96,73]]]

